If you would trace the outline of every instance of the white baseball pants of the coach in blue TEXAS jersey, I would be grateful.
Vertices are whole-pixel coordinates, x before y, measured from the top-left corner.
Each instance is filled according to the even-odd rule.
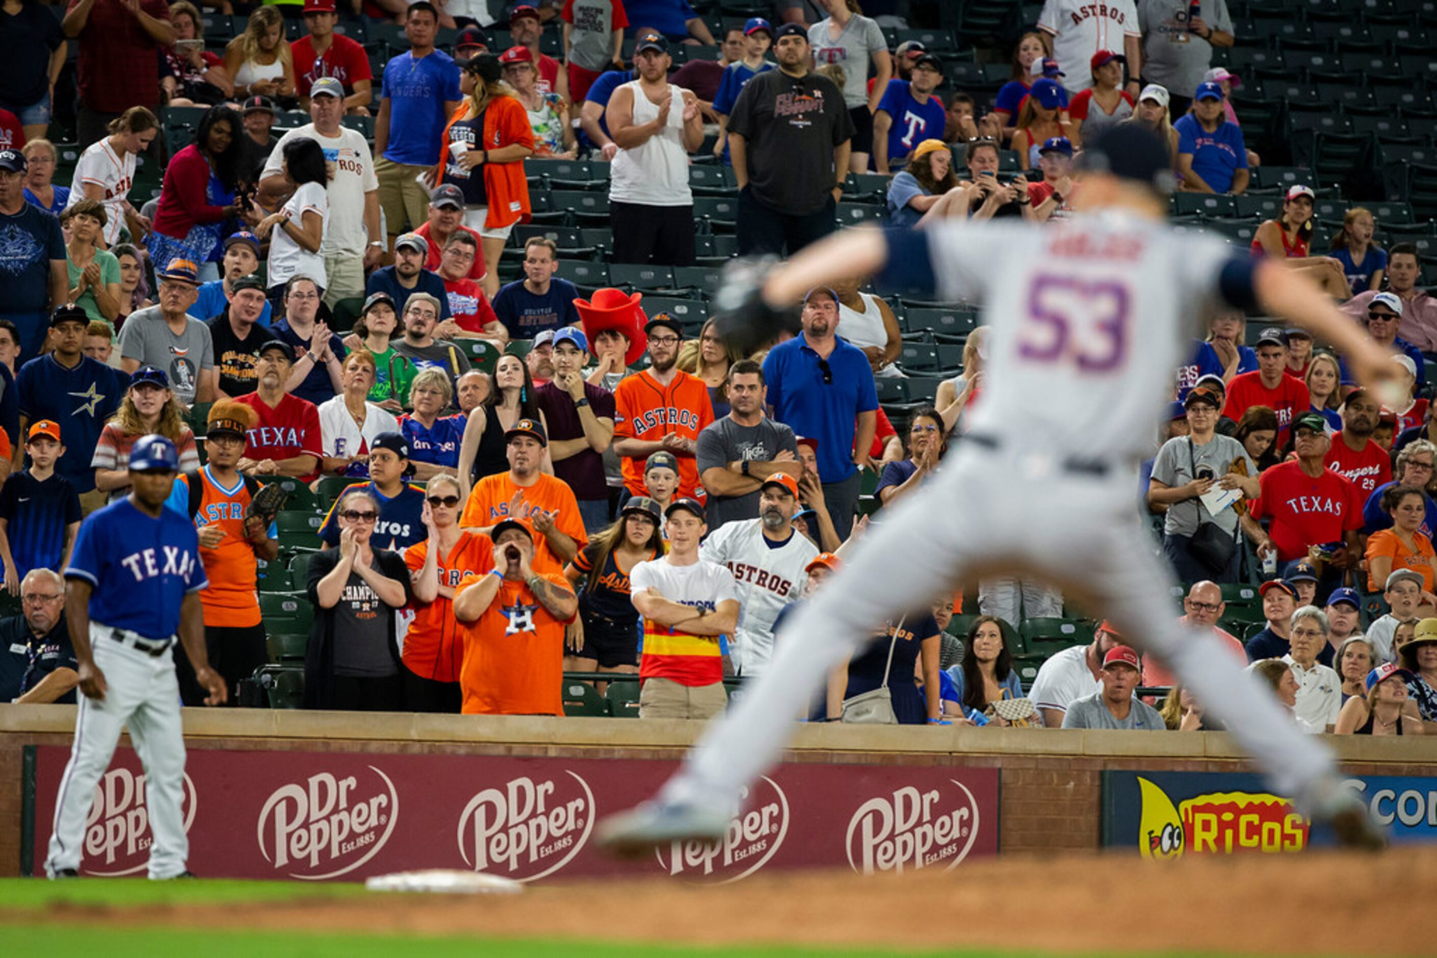
[[[95,786],[115,755],[121,730],[129,725],[129,738],[145,768],[149,878],[177,878],[185,870],[190,839],[180,809],[185,750],[174,656],[168,651],[151,656],[116,642],[111,632],[109,626],[91,623],[95,665],[105,674],[108,688],[99,701],[79,697],[75,744],[55,799],[45,873],[79,869]]]

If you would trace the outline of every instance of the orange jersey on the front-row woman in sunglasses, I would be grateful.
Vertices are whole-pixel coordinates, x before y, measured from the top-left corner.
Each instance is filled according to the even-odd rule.
[[[430,540],[422,539],[404,550],[404,563],[410,575],[417,576],[424,569],[430,553]],[[494,567],[494,543],[489,536],[461,530],[458,541],[447,556],[434,560],[440,585],[457,589],[467,573],[483,575]],[[463,626],[454,618],[454,602],[438,596],[428,605],[417,599],[411,605],[414,619],[404,633],[404,668],[420,678],[435,682],[457,682],[464,659]]]

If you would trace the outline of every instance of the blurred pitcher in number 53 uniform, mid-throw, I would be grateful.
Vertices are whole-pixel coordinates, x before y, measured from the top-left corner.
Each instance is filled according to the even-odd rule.
[[[1029,227],[940,223],[931,230],[849,230],[786,266],[749,267],[726,336],[772,330],[777,310],[839,276],[980,300],[992,323],[989,383],[951,462],[858,543],[812,602],[789,616],[769,668],[724,721],[710,725],[654,801],[614,816],[599,840],[637,853],[724,833],[741,790],[780,755],[793,715],[829,669],[884,619],[927,608],[960,580],[1032,575],[1106,615],[1161,658],[1267,773],[1277,794],[1331,822],[1339,840],[1382,834],[1275,697],[1232,655],[1173,616],[1173,576],[1152,562],[1134,514],[1137,465],[1173,369],[1217,307],[1257,306],[1352,358],[1364,381],[1392,365],[1298,273],[1214,237],[1163,223],[1171,180],[1164,144],[1134,124],[1085,155],[1081,215]],[[1020,438],[1017,438],[1020,437]],[[885,510],[887,513],[888,510]]]

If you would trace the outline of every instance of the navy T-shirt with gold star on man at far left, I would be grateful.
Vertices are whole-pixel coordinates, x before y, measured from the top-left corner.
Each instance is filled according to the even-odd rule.
[[[55,361],[55,353],[46,353],[20,366],[16,385],[20,415],[32,424],[52,419],[60,427],[65,455],[55,464],[55,471],[82,496],[95,488],[95,470],[91,467],[95,445],[105,424],[119,409],[129,376],[89,356],[80,356],[73,369],[66,369]]]

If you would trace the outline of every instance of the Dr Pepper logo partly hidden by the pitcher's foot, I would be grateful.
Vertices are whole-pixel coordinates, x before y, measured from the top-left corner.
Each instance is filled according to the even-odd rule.
[[[789,833],[789,797],[763,777],[744,791],[740,807],[717,842],[671,842],[655,849],[660,866],[680,878],[727,885],[767,865]]]

